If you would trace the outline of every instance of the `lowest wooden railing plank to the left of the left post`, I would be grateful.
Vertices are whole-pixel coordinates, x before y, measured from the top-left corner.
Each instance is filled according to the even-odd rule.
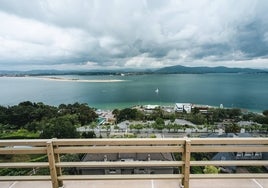
[[[50,176],[0,176],[0,181],[50,181]]]

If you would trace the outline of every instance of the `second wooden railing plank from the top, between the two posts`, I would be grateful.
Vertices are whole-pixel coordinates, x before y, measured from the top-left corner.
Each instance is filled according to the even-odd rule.
[[[169,153],[183,152],[181,146],[97,146],[97,147],[59,147],[54,150],[63,153]]]

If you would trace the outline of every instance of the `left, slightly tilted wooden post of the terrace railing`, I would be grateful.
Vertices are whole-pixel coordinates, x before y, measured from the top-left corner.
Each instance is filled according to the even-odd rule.
[[[48,163],[49,163],[49,171],[51,176],[51,182],[53,188],[59,188],[62,186],[62,182],[58,181],[58,172],[56,169],[56,156],[54,154],[53,142],[52,140],[47,142],[47,156],[48,156]]]

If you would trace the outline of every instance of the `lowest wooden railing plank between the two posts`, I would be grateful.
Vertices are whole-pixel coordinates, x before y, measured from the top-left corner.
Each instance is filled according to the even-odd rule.
[[[63,175],[59,180],[151,180],[151,179],[181,179],[182,174],[133,174],[133,175]]]

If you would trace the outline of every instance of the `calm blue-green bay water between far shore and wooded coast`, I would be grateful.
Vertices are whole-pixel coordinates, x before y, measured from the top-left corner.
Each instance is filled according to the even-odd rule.
[[[113,109],[136,104],[189,102],[253,111],[268,109],[268,74],[177,74],[139,76],[65,76],[83,80],[120,79],[124,82],[60,82],[37,78],[0,77],[0,105],[21,101],[88,103]],[[156,93],[155,90],[159,89]]]

